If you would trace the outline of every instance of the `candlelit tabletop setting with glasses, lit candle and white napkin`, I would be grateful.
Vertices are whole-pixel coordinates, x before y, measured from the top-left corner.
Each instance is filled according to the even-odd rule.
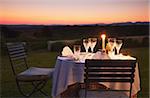
[[[123,45],[123,40],[110,37],[107,38],[106,34],[101,34],[100,38],[102,41],[102,48],[98,49],[98,51],[96,51],[95,53],[94,48],[98,43],[98,38],[83,38],[82,45],[74,44],[72,50],[69,46],[65,46],[61,52],[61,56],[59,56],[58,59],[73,60],[80,63],[84,63],[86,59],[136,59],[129,55],[123,55],[122,53],[120,53],[120,49]],[[84,46],[84,51],[81,51],[81,46]],[[91,49],[90,52],[89,49]]]

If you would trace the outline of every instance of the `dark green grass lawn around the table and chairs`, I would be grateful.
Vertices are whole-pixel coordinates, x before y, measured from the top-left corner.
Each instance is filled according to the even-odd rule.
[[[140,77],[141,77],[141,91],[138,94],[138,98],[149,98],[149,48],[132,48],[125,49],[129,53],[138,59]],[[54,67],[56,57],[58,53],[48,51],[31,51],[28,52],[28,64],[29,66],[40,67]],[[16,98],[22,97],[16,87],[15,78],[12,74],[11,66],[8,56],[1,57],[1,98]],[[52,81],[50,80],[44,88],[49,95],[51,95]],[[38,97],[40,96],[40,97]],[[42,98],[39,93],[32,96],[36,98]]]

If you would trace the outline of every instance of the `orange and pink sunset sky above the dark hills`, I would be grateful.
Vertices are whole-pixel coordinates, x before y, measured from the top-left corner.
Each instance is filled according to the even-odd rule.
[[[0,0],[0,24],[149,21],[148,0]]]

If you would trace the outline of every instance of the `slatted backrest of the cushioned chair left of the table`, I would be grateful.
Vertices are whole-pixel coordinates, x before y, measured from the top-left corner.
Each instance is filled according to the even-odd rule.
[[[27,55],[24,45],[24,42],[6,43],[9,60],[14,75],[28,69],[26,62]]]

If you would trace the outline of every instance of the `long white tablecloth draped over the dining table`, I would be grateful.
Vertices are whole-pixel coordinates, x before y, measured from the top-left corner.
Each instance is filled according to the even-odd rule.
[[[121,55],[118,56],[120,58]],[[93,57],[94,58],[94,57]],[[98,57],[96,57],[98,58]],[[118,59],[117,57],[109,56],[105,59]],[[133,57],[122,56],[122,59],[135,59]],[[99,58],[101,59],[101,58]],[[140,78],[138,63],[135,68],[135,79],[132,85],[132,95],[137,94],[140,91]],[[76,82],[84,82],[84,62],[74,61],[67,57],[58,57],[55,64],[55,71],[53,74],[53,84],[52,84],[52,97],[59,98],[60,94],[67,89],[67,87]],[[128,88],[129,84],[121,83],[103,83],[109,88]]]

